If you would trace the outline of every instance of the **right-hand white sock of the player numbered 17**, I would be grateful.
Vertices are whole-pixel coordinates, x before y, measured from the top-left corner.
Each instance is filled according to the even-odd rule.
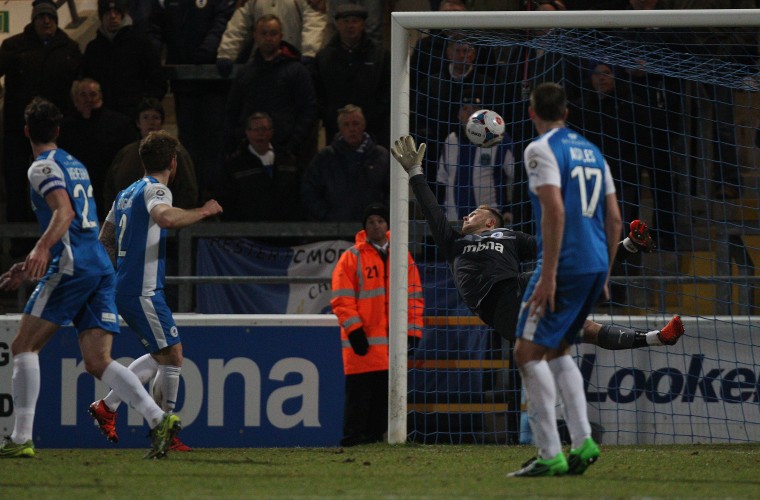
[[[562,401],[572,447],[578,448],[591,437],[583,375],[569,354],[549,361],[549,368]]]

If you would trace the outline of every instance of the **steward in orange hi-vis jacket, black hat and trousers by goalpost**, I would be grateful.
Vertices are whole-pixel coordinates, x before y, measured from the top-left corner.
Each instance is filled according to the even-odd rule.
[[[356,244],[341,255],[332,274],[333,312],[340,324],[346,399],[341,446],[383,441],[388,430],[388,208],[372,203],[364,211]],[[408,345],[422,337],[425,302],[412,259],[408,284]]]

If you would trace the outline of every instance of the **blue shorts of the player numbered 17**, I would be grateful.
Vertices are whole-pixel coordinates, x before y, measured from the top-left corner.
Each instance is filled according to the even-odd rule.
[[[539,273],[533,273],[523,295],[517,323],[517,338],[556,349],[562,341],[573,344],[578,330],[591,312],[604,288],[607,273],[575,274],[557,277],[554,312],[547,311],[542,318],[528,317],[526,300],[533,294]]]

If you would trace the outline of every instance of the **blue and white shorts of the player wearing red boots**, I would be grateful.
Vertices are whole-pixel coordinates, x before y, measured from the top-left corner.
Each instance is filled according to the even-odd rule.
[[[116,306],[149,353],[180,343],[179,330],[163,290],[155,295],[116,295]]]

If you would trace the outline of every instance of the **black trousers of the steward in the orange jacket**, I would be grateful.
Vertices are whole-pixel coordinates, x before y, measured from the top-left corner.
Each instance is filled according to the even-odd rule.
[[[388,431],[388,370],[346,375],[341,446],[376,443]]]

